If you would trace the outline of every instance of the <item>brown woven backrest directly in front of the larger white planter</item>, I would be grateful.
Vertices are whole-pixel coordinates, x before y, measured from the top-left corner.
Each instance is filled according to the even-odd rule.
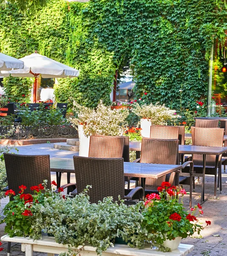
[[[91,136],[88,157],[121,158],[124,143],[124,137]]]

